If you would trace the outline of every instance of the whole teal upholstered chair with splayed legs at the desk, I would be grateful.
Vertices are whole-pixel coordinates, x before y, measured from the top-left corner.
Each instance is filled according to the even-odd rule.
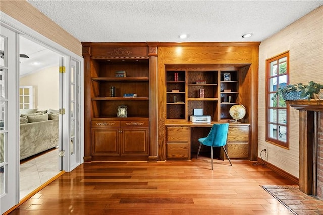
[[[213,170],[213,147],[222,147],[232,166],[232,163],[230,161],[226,148],[224,147],[227,144],[228,130],[229,130],[229,123],[213,124],[207,137],[198,139],[198,141],[200,142],[200,146],[197,151],[196,159],[198,157],[198,154],[200,153],[202,144],[205,146],[210,146],[211,158],[212,158],[212,170]]]

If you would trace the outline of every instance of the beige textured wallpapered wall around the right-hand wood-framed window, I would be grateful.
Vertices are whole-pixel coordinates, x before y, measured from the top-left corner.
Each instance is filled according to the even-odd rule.
[[[290,108],[289,149],[265,141],[265,61],[289,50],[290,83],[314,80],[323,84],[323,6],[287,26],[259,46],[259,148],[268,162],[299,177],[298,110]]]

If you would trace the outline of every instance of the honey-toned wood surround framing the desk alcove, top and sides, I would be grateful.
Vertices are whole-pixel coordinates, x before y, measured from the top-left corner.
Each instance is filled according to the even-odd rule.
[[[158,43],[158,160],[165,160],[165,64],[250,64],[251,160],[258,154],[258,46],[240,43]]]

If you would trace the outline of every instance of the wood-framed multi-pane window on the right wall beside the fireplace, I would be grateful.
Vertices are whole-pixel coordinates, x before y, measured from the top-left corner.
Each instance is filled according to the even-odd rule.
[[[288,107],[277,88],[289,83],[289,52],[266,60],[266,141],[288,148]]]

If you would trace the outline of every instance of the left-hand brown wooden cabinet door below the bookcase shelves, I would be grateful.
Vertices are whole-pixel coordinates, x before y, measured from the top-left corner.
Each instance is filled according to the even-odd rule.
[[[92,155],[120,155],[119,128],[92,128]]]

